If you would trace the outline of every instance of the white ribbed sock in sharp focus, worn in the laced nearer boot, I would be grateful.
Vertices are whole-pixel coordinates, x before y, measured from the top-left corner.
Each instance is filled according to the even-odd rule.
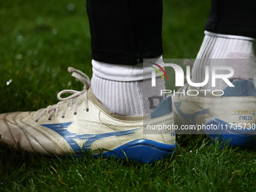
[[[156,62],[163,62],[162,56]],[[105,108],[115,114],[147,114],[163,99],[160,90],[165,89],[164,81],[157,77],[156,87],[151,87],[151,69],[145,72],[142,64],[123,66],[95,60],[92,64],[93,93]]]

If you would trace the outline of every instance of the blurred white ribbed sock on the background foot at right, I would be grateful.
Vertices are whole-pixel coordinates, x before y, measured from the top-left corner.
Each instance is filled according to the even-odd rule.
[[[248,79],[249,65],[248,60],[254,59],[253,38],[236,36],[236,35],[222,35],[212,32],[205,32],[203,44],[197,54],[197,60],[192,69],[192,81],[200,83],[205,80],[205,68],[209,65],[209,72],[211,73],[211,66],[230,66],[234,69],[235,74],[233,79]],[[211,59],[206,62],[206,59]],[[222,59],[222,60],[221,60]],[[220,74],[229,73],[220,71]],[[203,90],[224,90],[227,84],[222,81],[216,81],[216,87],[212,87],[211,76],[209,83]]]

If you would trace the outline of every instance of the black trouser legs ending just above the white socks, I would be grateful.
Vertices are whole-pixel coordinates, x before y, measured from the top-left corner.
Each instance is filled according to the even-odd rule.
[[[256,38],[255,0],[212,0],[206,30]],[[87,0],[92,58],[136,65],[163,53],[162,0]]]

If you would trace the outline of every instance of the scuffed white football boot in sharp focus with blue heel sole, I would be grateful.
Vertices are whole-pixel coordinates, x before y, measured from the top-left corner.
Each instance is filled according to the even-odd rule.
[[[84,83],[84,90],[62,90],[59,103],[32,112],[0,114],[2,142],[44,155],[81,155],[83,149],[107,157],[151,163],[175,152],[174,130],[144,134],[147,125],[174,123],[171,97],[151,114],[121,116],[105,109],[90,88],[84,73],[69,68]],[[62,93],[72,96],[61,98]]]

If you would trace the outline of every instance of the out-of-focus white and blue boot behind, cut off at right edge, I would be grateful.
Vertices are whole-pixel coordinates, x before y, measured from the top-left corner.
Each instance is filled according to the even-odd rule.
[[[205,133],[213,141],[230,139],[235,147],[256,149],[256,61],[250,62],[251,78],[230,79],[235,87],[213,93],[199,90],[197,95],[198,88],[185,84],[172,95],[175,124],[181,133]]]

